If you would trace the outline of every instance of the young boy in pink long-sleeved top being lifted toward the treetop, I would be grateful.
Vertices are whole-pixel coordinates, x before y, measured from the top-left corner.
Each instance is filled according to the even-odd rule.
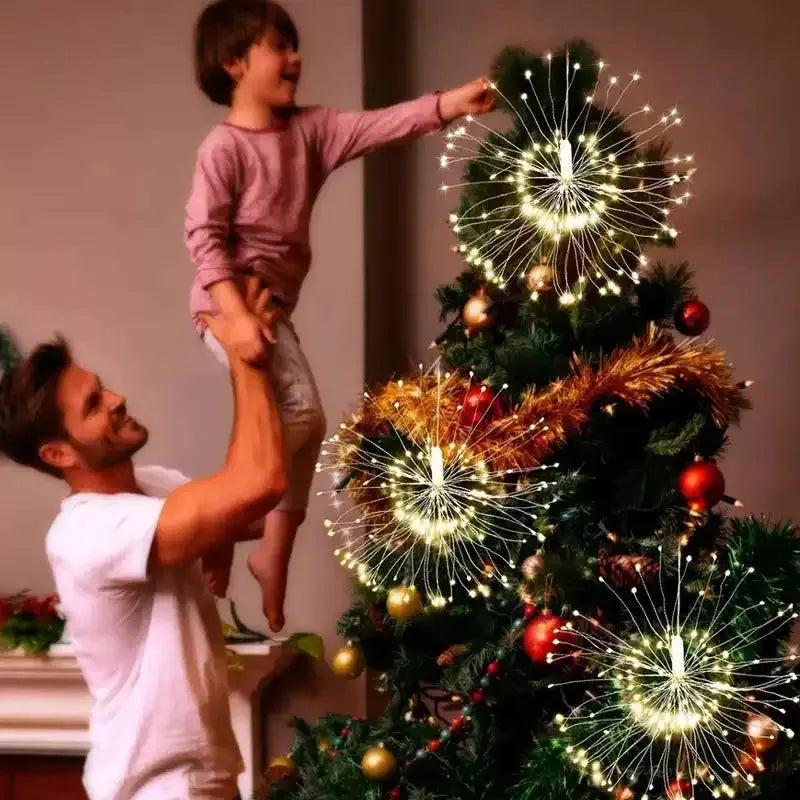
[[[197,82],[229,110],[200,146],[187,205],[195,325],[224,361],[200,317],[222,315],[234,331],[236,352],[258,364],[271,333],[244,308],[241,276],[257,275],[282,312],[268,369],[281,408],[289,489],[267,516],[261,545],[248,561],[273,631],[284,625],[289,558],[325,434],[314,376],[290,321],[311,263],[314,201],[345,162],[494,107],[486,78],[376,111],[298,107],[301,67],[297,28],[277,3],[218,0],[200,15]]]

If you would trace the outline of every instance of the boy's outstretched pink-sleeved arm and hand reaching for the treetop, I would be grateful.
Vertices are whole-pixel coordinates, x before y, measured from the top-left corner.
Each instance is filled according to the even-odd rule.
[[[494,108],[494,94],[486,78],[440,94],[374,111],[325,109],[321,120],[320,152],[326,172],[379,147],[441,130],[466,114]]]

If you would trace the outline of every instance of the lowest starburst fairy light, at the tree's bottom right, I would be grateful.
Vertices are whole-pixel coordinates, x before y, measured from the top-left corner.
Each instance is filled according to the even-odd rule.
[[[631,589],[630,604],[600,578],[627,613],[632,634],[618,636],[579,611],[573,612],[579,621],[565,626],[580,657],[596,672],[584,680],[551,684],[588,686],[587,699],[569,715],[559,715],[556,724],[569,742],[567,757],[595,786],[611,793],[689,800],[701,796],[695,792],[703,786],[703,797],[732,797],[737,785],[754,782],[754,767],[762,768],[757,753],[766,748],[748,733],[750,715],[766,716],[775,730],[794,737],[780,719],[790,703],[798,703],[789,688],[797,676],[781,668],[783,658],[759,659],[754,652],[759,642],[782,629],[788,635],[797,613],[787,605],[770,614],[764,601],[738,605],[736,593],[754,570],[739,578],[725,570],[712,587],[716,558],[687,607],[682,595],[691,561],[679,555],[670,603],[663,570],[655,596],[639,575],[640,587]],[[754,614],[762,621],[737,630]],[[550,654],[548,660],[564,657]]]

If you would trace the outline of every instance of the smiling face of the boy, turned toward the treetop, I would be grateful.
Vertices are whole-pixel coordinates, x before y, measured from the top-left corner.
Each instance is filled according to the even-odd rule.
[[[302,60],[292,42],[269,28],[247,53],[240,86],[275,108],[293,106]]]

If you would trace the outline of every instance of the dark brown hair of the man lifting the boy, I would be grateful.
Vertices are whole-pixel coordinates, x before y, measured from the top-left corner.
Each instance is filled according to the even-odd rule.
[[[57,478],[60,470],[42,461],[39,448],[69,438],[57,395],[61,376],[71,364],[69,345],[59,336],[40,344],[0,379],[0,452]]]

